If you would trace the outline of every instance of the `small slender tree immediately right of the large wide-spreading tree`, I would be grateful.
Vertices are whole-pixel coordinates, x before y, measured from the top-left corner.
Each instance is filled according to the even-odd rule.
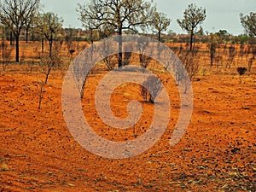
[[[161,32],[165,32],[171,24],[171,19],[167,18],[166,14],[155,12],[152,19],[153,32],[157,32],[158,41],[161,39]]]

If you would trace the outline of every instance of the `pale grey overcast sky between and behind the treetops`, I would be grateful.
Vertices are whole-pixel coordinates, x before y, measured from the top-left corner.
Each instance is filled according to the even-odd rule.
[[[90,0],[41,0],[44,11],[53,11],[64,19],[65,27],[82,28],[75,11],[78,3],[89,3]],[[177,25],[177,19],[183,18],[183,11],[190,3],[197,7],[207,9],[207,19],[203,23],[203,29],[208,32],[218,32],[225,29],[231,34],[243,33],[239,14],[248,15],[256,12],[256,0],[154,0],[157,9],[172,19],[169,26],[173,32],[186,33]]]

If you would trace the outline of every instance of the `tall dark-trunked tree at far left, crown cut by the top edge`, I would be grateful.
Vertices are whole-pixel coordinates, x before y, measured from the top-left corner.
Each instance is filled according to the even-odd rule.
[[[38,10],[40,0],[3,0],[0,4],[0,20],[16,38],[16,61],[20,59],[20,32],[27,20]]]

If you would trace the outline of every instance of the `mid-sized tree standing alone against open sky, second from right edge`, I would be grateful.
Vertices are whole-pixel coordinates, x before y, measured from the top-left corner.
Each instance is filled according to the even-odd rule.
[[[190,34],[190,51],[193,49],[193,37],[197,32],[202,31],[202,28],[197,28],[206,19],[206,9],[197,8],[195,4],[189,4],[188,9],[183,12],[183,20],[177,20],[181,28]]]

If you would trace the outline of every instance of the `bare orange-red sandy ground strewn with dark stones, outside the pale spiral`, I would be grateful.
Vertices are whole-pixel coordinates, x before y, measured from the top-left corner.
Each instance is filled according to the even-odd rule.
[[[38,110],[43,76],[20,68],[0,76],[0,191],[256,191],[255,67],[241,84],[235,67],[199,74],[200,81],[193,81],[191,122],[173,147],[169,140],[179,98],[173,80],[166,81],[172,102],[166,132],[153,148],[125,160],[91,154],[71,136],[62,115],[61,73],[49,77]],[[84,115],[102,137],[132,140],[132,129],[109,128],[96,114],[93,94],[104,73],[96,70],[88,79]],[[138,86],[120,86],[113,93],[113,113],[125,117],[127,101],[133,99],[143,101]],[[148,129],[152,113],[152,104],[146,103],[138,135]]]

